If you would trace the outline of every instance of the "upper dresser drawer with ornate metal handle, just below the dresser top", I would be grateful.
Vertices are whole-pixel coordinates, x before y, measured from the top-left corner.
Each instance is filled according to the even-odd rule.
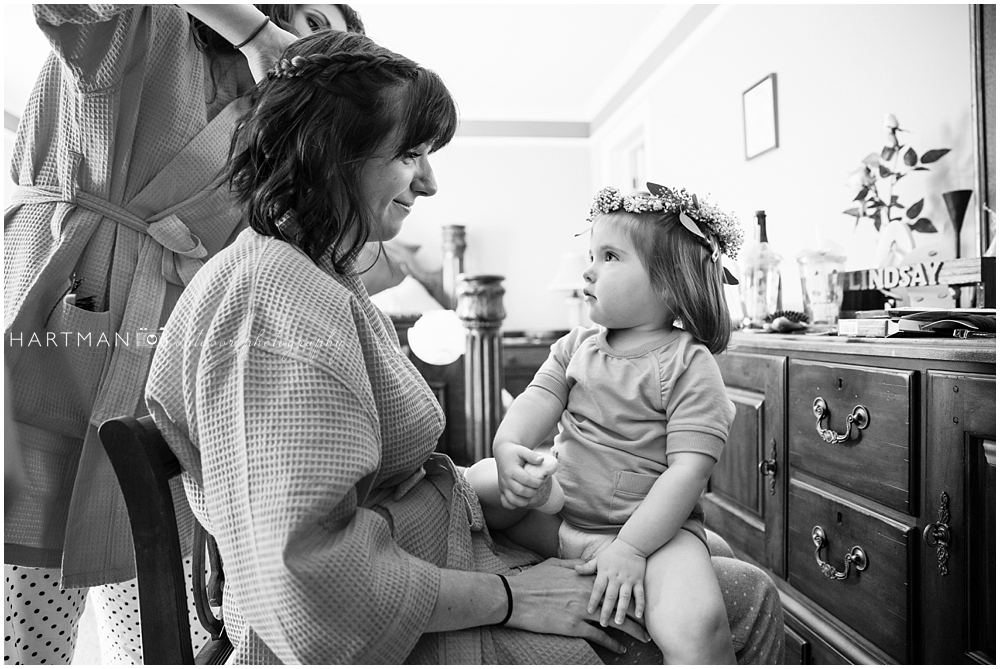
[[[792,360],[789,464],[912,515],[915,376],[905,370]],[[818,402],[826,408],[821,419]],[[867,412],[864,429],[857,427],[860,422],[848,422],[848,417],[861,417],[858,406]]]

